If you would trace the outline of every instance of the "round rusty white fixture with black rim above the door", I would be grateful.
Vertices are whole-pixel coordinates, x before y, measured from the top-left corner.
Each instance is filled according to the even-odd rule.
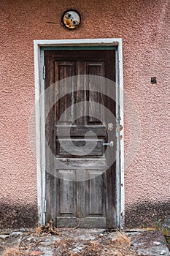
[[[81,17],[79,12],[69,9],[66,10],[66,12],[63,12],[61,21],[66,29],[77,29],[77,27],[80,25]]]

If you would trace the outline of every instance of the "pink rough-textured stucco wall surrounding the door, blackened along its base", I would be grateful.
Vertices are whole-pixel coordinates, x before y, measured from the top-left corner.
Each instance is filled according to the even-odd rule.
[[[139,114],[141,142],[125,169],[126,225],[166,215],[170,201],[169,0],[0,1],[1,225],[36,222],[36,159],[28,139],[34,105],[34,39],[123,39],[125,91]],[[61,26],[70,7],[75,31]],[[53,23],[47,23],[47,21]],[[150,78],[158,83],[152,85]],[[125,119],[125,154],[131,138]],[[144,210],[145,209],[145,210]]]

